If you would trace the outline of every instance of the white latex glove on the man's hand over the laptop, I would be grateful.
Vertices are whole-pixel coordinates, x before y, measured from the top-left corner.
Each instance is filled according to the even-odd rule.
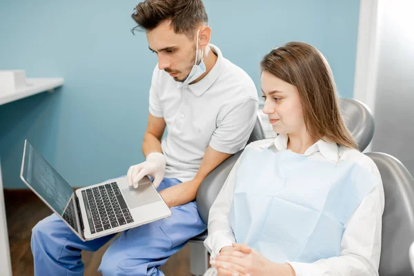
[[[129,186],[138,188],[138,181],[146,175],[154,178],[152,184],[158,188],[166,173],[166,157],[160,152],[152,152],[146,157],[146,161],[140,164],[130,166],[126,179]]]

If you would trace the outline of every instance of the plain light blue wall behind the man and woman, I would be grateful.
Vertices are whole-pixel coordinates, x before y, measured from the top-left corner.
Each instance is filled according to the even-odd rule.
[[[23,188],[29,139],[72,186],[126,174],[144,160],[141,141],[155,54],[133,36],[137,0],[0,0],[0,69],[64,77],[52,94],[0,106],[3,185]],[[212,43],[259,88],[259,61],[288,41],[311,43],[331,63],[339,92],[353,95],[359,0],[205,0]]]

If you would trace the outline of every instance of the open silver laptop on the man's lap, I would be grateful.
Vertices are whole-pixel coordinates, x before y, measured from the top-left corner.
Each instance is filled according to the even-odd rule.
[[[138,188],[126,177],[76,191],[28,140],[24,142],[21,180],[82,240],[97,239],[170,217],[171,210],[148,177]]]

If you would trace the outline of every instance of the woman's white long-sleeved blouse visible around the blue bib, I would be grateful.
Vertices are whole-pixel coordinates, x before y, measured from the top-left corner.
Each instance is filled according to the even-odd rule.
[[[287,135],[279,135],[276,139],[256,141],[248,145],[262,150],[274,143],[277,150],[287,150]],[[305,156],[326,158],[338,161],[336,144],[319,140],[306,152]],[[384,212],[384,188],[380,172],[371,158],[361,152],[342,148],[339,162],[351,160],[357,162],[372,173],[377,182],[375,188],[359,204],[353,215],[345,224],[339,257],[319,259],[312,264],[288,262],[297,276],[307,275],[378,275],[381,253],[382,213]],[[240,158],[239,158],[240,160]],[[204,245],[212,257],[219,254],[224,246],[235,242],[235,235],[228,221],[230,204],[233,201],[236,171],[239,160],[228,175],[217,199],[210,208],[208,218],[208,237]]]

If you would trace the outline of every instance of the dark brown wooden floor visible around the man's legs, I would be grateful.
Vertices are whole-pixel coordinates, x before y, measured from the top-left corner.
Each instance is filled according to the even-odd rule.
[[[33,275],[33,257],[30,250],[30,236],[37,221],[47,217],[52,211],[30,190],[4,190],[10,255],[13,276]],[[110,243],[95,253],[82,252],[87,276],[101,275],[97,268],[101,257]],[[187,244],[168,262],[161,266],[166,276],[190,276],[190,248]]]

